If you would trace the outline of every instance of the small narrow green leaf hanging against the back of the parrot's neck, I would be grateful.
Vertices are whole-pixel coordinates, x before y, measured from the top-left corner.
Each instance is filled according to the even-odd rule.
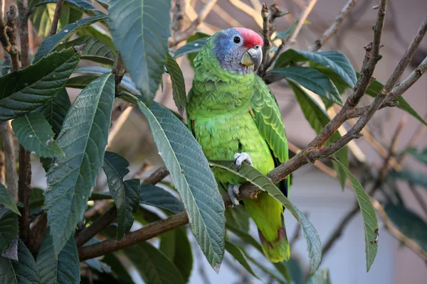
[[[179,114],[182,116],[186,106],[184,75],[182,75],[182,71],[181,68],[179,68],[178,63],[176,63],[172,55],[169,53],[166,57],[166,69],[171,76],[172,94],[174,96],[175,105],[178,108]]]

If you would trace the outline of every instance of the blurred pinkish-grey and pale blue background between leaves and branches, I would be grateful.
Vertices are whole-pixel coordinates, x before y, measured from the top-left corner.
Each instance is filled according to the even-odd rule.
[[[184,22],[194,21],[197,14],[204,6],[207,0],[188,0],[184,14]],[[12,1],[4,1],[6,7]],[[276,20],[277,31],[285,31],[295,20],[300,17],[301,12],[307,6],[306,0],[266,0],[265,3],[270,5],[276,3],[281,9],[290,13],[287,16]],[[290,47],[300,50],[307,50],[310,45],[315,43],[317,38],[334,22],[339,11],[341,11],[347,0],[319,0],[315,3],[314,8],[307,17],[308,23],[302,26],[302,30],[296,38],[296,42]],[[95,3],[96,4],[96,3]],[[363,46],[372,40],[372,25],[376,19],[376,10],[372,6],[377,1],[359,0],[352,9],[348,18],[342,24],[338,33],[334,35],[328,43],[322,47],[322,50],[339,50],[352,62],[354,69],[359,71],[364,58]],[[252,28],[260,33],[262,30],[262,18],[260,16],[261,1],[258,0],[218,0],[214,8],[209,13],[204,23],[201,23],[199,30],[213,34],[223,28],[231,26],[243,26]],[[4,11],[4,7],[2,7]],[[100,8],[101,9],[101,8]],[[408,44],[411,42],[413,35],[416,34],[418,26],[427,13],[427,1],[425,0],[389,0],[388,11],[381,48],[382,60],[379,61],[374,76],[380,82],[385,82],[391,72],[396,67],[401,56],[404,54]],[[36,31],[30,35],[31,48],[33,53],[40,45],[40,36]],[[0,51],[0,58],[4,58],[3,50]],[[408,66],[404,76],[406,77],[427,55],[427,39],[425,38],[420,45],[418,53],[413,62]],[[86,62],[84,64],[93,65]],[[83,64],[83,65],[84,65]],[[191,80],[194,76],[194,70],[189,64],[186,57],[179,59],[179,65],[184,72],[186,80],[186,90],[191,88]],[[284,81],[284,80],[283,80]],[[164,89],[160,89],[156,96],[156,101],[161,102],[169,109],[176,110],[172,100],[172,86],[168,75],[163,77]],[[298,148],[304,148],[312,138],[315,137],[315,131],[303,116],[299,105],[292,94],[290,88],[285,82],[276,82],[270,84],[275,97],[278,99],[285,128],[288,133],[288,139],[291,143],[290,150],[294,153]],[[404,94],[406,101],[411,104],[413,109],[420,115],[427,114],[427,77],[421,77],[416,84]],[[79,94],[78,89],[68,89],[71,100]],[[349,90],[347,90],[347,94]],[[322,101],[312,94],[317,101]],[[346,95],[344,94],[344,98]],[[365,96],[362,104],[369,104],[371,97]],[[117,104],[120,104],[118,102]],[[330,116],[333,116],[339,110],[338,106],[328,110]],[[157,155],[157,149],[152,141],[152,137],[147,135],[147,121],[145,121],[139,111],[127,109],[120,118],[120,127],[115,126],[110,135],[108,150],[115,151],[125,156],[134,166],[130,175],[140,167],[142,163],[147,163],[148,170],[144,174],[149,174],[162,165],[162,159]],[[345,132],[354,124],[354,121],[344,124],[341,131]],[[362,180],[365,188],[370,188],[370,182],[374,180],[375,173],[384,164],[384,159],[389,155],[389,147],[392,137],[396,133],[399,124],[403,129],[396,139],[395,152],[401,153],[408,146],[415,146],[422,150],[427,146],[426,129],[413,116],[406,112],[394,108],[386,108],[378,111],[371,119],[367,128],[363,131],[364,136],[357,141],[349,144],[350,153],[350,170],[354,175]],[[415,142],[415,143],[414,143]],[[412,144],[412,145],[410,145]],[[46,187],[45,172],[38,162],[38,158],[33,158],[33,186]],[[413,155],[405,155],[401,162],[389,160],[390,168],[395,170],[413,170],[421,175],[423,180],[427,180],[426,165],[420,163]],[[305,165],[294,173],[293,185],[290,190],[290,200],[299,207],[302,212],[307,214],[312,224],[314,224],[322,244],[330,238],[336,227],[341,224],[342,219],[349,211],[352,211],[356,201],[354,192],[351,187],[347,187],[342,192],[339,182],[333,177],[329,168],[322,168],[324,164],[316,163],[315,165]],[[328,164],[327,164],[328,165]],[[326,165],[326,166],[327,166]],[[387,165],[388,166],[388,165]],[[132,173],[133,172],[133,173]],[[372,174],[374,173],[374,174]],[[331,176],[332,175],[332,176]],[[426,182],[427,183],[427,182]],[[99,187],[105,186],[105,177],[100,175],[98,179]],[[399,195],[407,209],[416,213],[418,217],[426,221],[427,212],[422,200],[427,200],[426,188],[418,185],[408,186],[408,182],[394,182],[393,185],[385,185],[392,189],[397,187]],[[379,190],[376,197],[379,200],[388,200],[387,188]],[[102,190],[102,188],[100,188]],[[424,206],[424,207],[423,207]],[[305,240],[298,234],[297,222],[290,214],[285,215],[288,236],[292,240],[292,267],[297,275],[298,269],[307,270],[308,257]],[[382,226],[379,218],[379,249],[376,261],[371,267],[369,273],[366,272],[365,251],[364,251],[364,231],[362,217],[357,212],[354,217],[349,218],[349,222],[342,234],[333,242],[330,250],[327,251],[322,261],[322,268],[329,268],[332,283],[426,283],[427,279],[427,262],[417,253],[402,246],[389,231]],[[424,223],[425,224],[425,223]],[[137,225],[135,225],[137,226]],[[423,235],[423,228],[418,228],[409,223],[411,229],[416,234],[421,234],[420,238],[423,243],[427,243],[427,234]],[[418,230],[418,231],[417,231]],[[258,239],[255,226],[252,224],[251,231],[253,236]],[[190,236],[190,235],[189,235]],[[221,266],[221,272],[217,275],[206,262],[196,241],[193,239],[194,248],[194,269],[191,275],[190,283],[268,283],[268,279],[263,281],[251,278],[248,273],[241,268],[237,261],[234,261],[226,253],[226,258]],[[256,251],[250,251],[253,258],[257,259],[260,254]],[[261,259],[261,258],[259,258]],[[291,271],[292,273],[292,271]],[[302,273],[303,275],[303,273]],[[135,274],[135,277],[137,275]],[[140,280],[142,281],[142,280]],[[295,280],[295,283],[300,283]]]

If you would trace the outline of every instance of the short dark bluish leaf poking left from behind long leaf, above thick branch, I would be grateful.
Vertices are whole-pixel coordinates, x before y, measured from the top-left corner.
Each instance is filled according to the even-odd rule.
[[[152,205],[162,209],[169,210],[172,213],[184,211],[184,204],[171,193],[164,190],[162,187],[155,185],[142,185],[139,203]]]

